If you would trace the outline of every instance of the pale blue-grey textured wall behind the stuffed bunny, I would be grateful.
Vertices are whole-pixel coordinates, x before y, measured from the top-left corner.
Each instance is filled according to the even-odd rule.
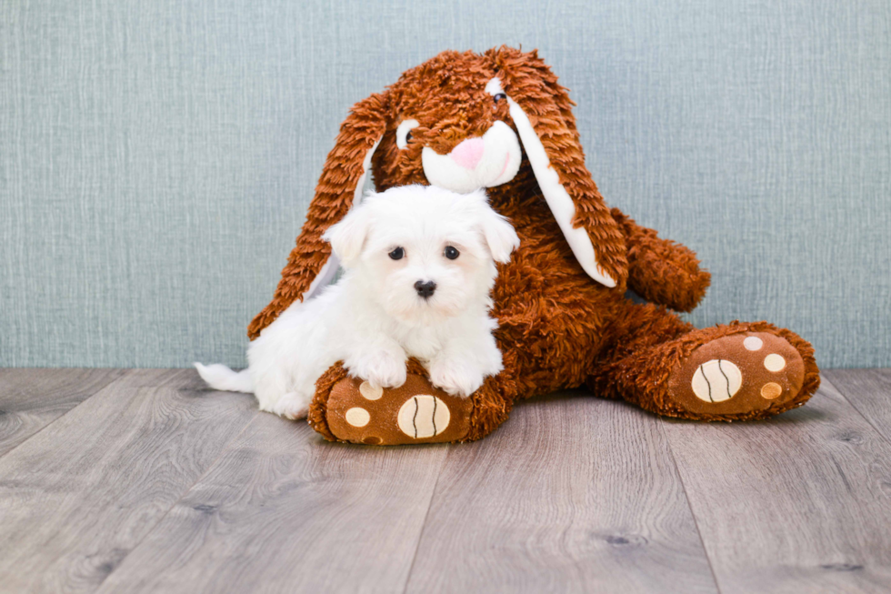
[[[337,127],[446,48],[539,48],[698,325],[891,366],[886,0],[0,4],[0,366],[245,363]]]

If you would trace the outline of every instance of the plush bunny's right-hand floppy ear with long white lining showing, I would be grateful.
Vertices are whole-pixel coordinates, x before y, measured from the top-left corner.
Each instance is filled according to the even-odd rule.
[[[486,91],[506,94],[538,186],[579,264],[597,282],[616,287],[627,277],[625,239],[585,166],[566,88],[536,52],[503,48],[494,57],[499,76]]]

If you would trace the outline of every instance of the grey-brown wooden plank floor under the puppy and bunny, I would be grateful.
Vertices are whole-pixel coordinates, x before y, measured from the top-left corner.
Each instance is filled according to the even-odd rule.
[[[0,370],[0,592],[888,592],[891,371],[757,423],[569,393],[330,444],[192,370]]]

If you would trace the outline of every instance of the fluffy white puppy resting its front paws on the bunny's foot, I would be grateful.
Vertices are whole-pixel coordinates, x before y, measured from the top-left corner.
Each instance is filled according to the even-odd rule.
[[[495,262],[506,263],[519,238],[482,190],[369,193],[324,238],[343,277],[266,327],[244,371],[195,363],[212,388],[253,392],[261,410],[296,419],[337,361],[355,378],[396,388],[416,357],[436,387],[461,397],[501,371],[490,293]]]

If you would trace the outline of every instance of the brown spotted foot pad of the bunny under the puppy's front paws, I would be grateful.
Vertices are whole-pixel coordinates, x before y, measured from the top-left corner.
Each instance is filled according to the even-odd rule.
[[[344,378],[331,389],[326,418],[338,439],[392,446],[464,438],[472,408],[470,398],[449,396],[416,374],[408,374],[399,388]]]

